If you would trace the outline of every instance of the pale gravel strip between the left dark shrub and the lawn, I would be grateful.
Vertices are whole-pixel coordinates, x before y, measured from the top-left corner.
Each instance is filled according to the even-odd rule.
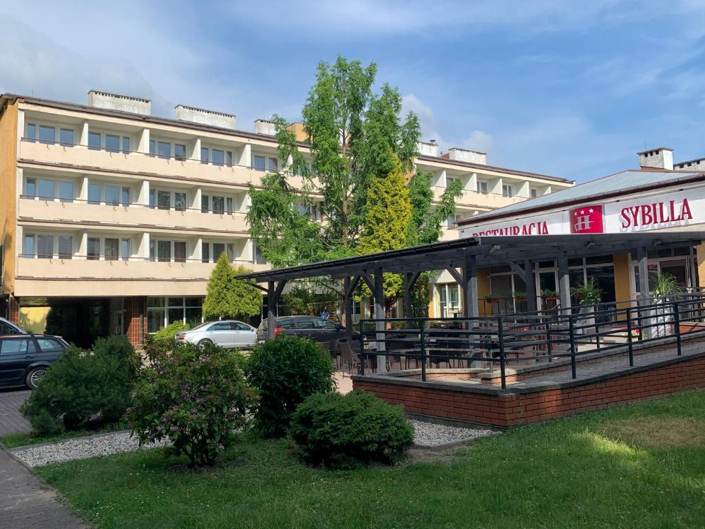
[[[145,444],[143,448],[164,446],[168,441]],[[60,463],[73,459],[85,459],[96,456],[107,456],[118,452],[128,452],[140,449],[136,437],[130,437],[130,432],[114,432],[109,434],[76,437],[58,443],[39,444],[11,450],[13,456],[23,461],[27,466],[42,466],[49,463]]]

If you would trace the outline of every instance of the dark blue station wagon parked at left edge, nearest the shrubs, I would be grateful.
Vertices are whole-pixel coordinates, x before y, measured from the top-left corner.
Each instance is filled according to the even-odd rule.
[[[49,334],[0,336],[0,387],[27,385],[37,389],[49,365],[61,358],[68,343]]]

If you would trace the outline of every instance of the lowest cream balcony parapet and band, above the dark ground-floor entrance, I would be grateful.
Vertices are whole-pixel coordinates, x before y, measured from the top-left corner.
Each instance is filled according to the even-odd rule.
[[[259,272],[271,266],[236,261]],[[214,263],[198,260],[159,262],[142,257],[128,260],[36,259],[17,260],[16,296],[204,296]]]

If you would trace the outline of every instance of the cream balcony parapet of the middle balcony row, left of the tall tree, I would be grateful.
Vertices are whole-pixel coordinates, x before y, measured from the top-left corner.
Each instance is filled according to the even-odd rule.
[[[202,213],[200,209],[191,208],[177,211],[173,208],[160,209],[139,204],[98,205],[88,204],[85,200],[61,202],[59,199],[37,200],[21,197],[18,217],[59,223],[66,221],[71,226],[75,226],[77,222],[105,224],[111,227],[122,224],[125,227],[144,226],[145,229],[168,227],[189,231],[227,231],[247,234],[245,213]]]

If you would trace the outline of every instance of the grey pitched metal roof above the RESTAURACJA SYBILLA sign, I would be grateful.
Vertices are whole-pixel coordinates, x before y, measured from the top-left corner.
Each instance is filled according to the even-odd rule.
[[[473,215],[458,221],[459,226],[478,224],[482,221],[502,217],[514,217],[517,214],[553,209],[556,207],[572,205],[583,200],[595,200],[596,197],[606,198],[610,195],[621,195],[639,190],[649,190],[678,183],[698,181],[705,179],[705,173],[699,171],[667,171],[651,169],[630,169],[620,173],[596,178],[589,182],[578,184],[572,188],[565,188],[556,193],[517,202],[505,207],[493,209],[490,212]]]

